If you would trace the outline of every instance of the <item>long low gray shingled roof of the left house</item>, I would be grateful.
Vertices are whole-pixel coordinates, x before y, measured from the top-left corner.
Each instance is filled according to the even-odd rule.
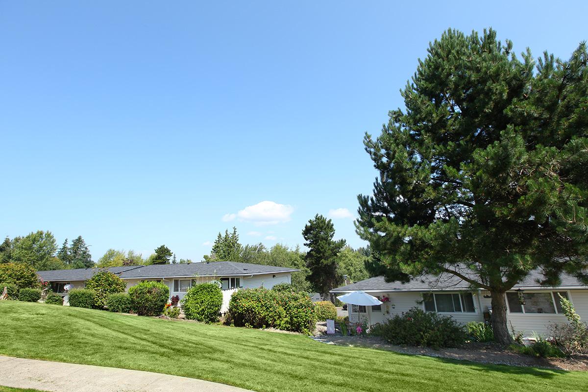
[[[82,268],[76,270],[39,271],[39,278],[45,282],[88,280],[101,269]],[[297,269],[262,266],[237,262],[210,262],[189,264],[156,264],[151,266],[109,267],[121,279],[145,279],[192,276],[242,276],[279,272],[295,272]]]

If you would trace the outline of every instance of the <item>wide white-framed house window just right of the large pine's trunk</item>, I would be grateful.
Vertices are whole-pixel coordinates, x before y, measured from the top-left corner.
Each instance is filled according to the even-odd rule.
[[[510,313],[560,314],[563,313],[563,309],[557,294],[568,299],[567,292],[522,292],[521,301],[519,293],[508,292],[506,293],[506,302]]]

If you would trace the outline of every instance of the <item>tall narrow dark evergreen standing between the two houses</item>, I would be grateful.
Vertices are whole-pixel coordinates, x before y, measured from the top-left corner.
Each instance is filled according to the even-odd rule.
[[[333,240],[333,222],[318,214],[309,220],[302,230],[302,236],[306,240],[305,246],[309,248],[305,256],[306,267],[310,270],[308,280],[313,289],[325,297],[329,290],[342,281],[337,254],[345,246],[345,240]]]

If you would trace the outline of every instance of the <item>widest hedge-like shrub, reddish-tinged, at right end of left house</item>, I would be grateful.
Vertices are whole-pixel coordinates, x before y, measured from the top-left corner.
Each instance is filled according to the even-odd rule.
[[[310,297],[304,293],[259,287],[233,294],[226,322],[238,327],[310,333],[315,329],[316,313]]]

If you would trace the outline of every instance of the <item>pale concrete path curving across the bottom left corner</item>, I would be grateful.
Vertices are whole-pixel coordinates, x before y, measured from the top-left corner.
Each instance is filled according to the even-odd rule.
[[[0,386],[50,392],[247,392],[149,371],[0,356]]]

